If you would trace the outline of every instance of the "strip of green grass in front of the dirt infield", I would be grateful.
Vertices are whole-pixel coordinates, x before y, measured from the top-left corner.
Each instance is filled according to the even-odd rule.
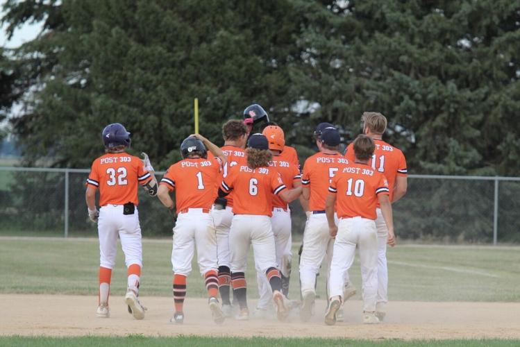
[[[237,337],[0,337],[1,346],[192,346],[192,347],[305,347],[305,346],[378,346],[378,347],[401,347],[401,346],[518,346],[519,341],[513,340],[444,340],[444,341],[360,341],[349,339],[267,339],[256,337],[252,339],[241,339]]]

